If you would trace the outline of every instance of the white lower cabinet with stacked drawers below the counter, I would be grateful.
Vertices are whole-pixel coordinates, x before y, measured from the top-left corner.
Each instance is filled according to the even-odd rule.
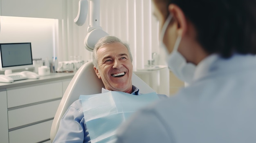
[[[0,143],[50,143],[52,121],[70,81],[0,89]]]

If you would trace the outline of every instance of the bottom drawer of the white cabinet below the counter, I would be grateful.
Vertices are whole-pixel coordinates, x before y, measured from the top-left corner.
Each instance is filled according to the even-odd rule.
[[[9,132],[9,143],[38,143],[50,138],[52,120]]]

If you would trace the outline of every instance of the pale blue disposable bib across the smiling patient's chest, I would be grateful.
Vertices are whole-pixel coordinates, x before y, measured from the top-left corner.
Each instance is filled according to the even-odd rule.
[[[131,95],[110,91],[80,95],[91,143],[114,143],[116,129],[139,108],[159,99],[156,92]]]

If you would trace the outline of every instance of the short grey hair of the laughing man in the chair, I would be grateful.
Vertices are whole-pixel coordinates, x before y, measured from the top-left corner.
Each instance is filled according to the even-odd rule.
[[[130,51],[130,47],[128,43],[122,42],[119,38],[115,37],[115,36],[105,36],[102,37],[94,46],[93,49],[93,53],[92,53],[92,63],[93,65],[98,69],[98,57],[97,57],[97,51],[99,50],[99,48],[101,48],[102,46],[105,45],[109,45],[115,42],[120,42],[121,44],[123,44],[128,52],[129,52],[129,56],[130,56],[130,60],[132,62],[132,53]]]

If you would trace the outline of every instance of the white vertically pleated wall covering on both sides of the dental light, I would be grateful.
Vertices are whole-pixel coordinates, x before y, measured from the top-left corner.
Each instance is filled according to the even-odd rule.
[[[78,2],[63,0],[65,11],[63,20],[59,22],[60,46],[57,50],[61,61],[70,59],[70,55],[81,55],[85,62],[92,58],[91,52],[83,46],[89,16],[83,26],[73,22]],[[144,68],[153,52],[162,54],[158,42],[158,22],[152,15],[151,7],[151,0],[100,0],[100,26],[110,35],[130,44],[134,70]],[[159,64],[164,65],[164,59],[160,59]]]

